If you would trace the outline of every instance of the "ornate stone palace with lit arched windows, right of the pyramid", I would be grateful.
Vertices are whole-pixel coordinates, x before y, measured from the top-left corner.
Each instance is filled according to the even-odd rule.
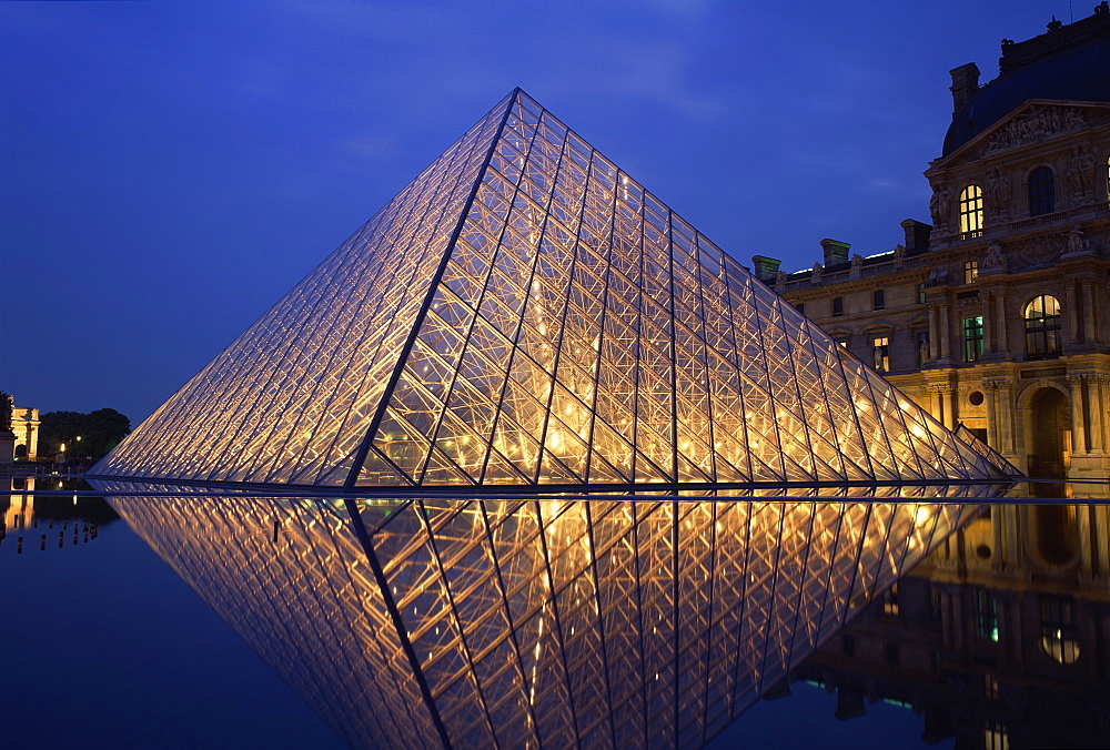
[[[1110,475],[1108,69],[1102,2],[1003,40],[986,85],[973,63],[952,70],[952,124],[925,172],[932,224],[906,220],[904,244],[869,257],[826,240],[819,267],[769,280],[1030,476]]]

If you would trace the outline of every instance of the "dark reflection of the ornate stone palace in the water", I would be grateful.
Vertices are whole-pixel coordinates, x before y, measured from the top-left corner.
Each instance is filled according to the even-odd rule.
[[[957,748],[1110,746],[1110,507],[993,506],[795,677]]]

